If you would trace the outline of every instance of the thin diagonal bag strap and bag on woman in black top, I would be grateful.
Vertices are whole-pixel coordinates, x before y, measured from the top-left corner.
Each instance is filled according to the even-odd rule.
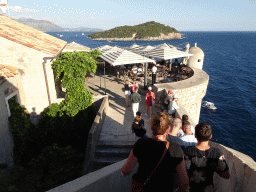
[[[147,179],[145,180],[144,183],[142,182],[137,182],[134,179],[132,179],[132,192],[142,192],[144,190],[145,185],[148,183],[148,181],[150,180],[151,176],[153,175],[153,173],[155,172],[156,168],[158,167],[158,165],[161,163],[161,161],[163,160],[167,150],[169,149],[170,143],[167,141],[166,146],[165,146],[165,150],[164,153],[161,157],[161,159],[159,160],[157,166],[155,167],[155,169],[151,172],[150,176],[147,177]]]

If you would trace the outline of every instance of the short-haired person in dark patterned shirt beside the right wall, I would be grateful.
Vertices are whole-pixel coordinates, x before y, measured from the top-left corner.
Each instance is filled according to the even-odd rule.
[[[222,151],[209,145],[212,138],[212,127],[209,124],[197,124],[195,137],[198,144],[185,150],[190,191],[216,191],[213,182],[214,172],[224,179],[229,179],[229,166]]]

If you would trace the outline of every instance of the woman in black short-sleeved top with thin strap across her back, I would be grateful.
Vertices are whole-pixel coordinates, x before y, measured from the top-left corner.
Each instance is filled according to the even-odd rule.
[[[139,162],[138,171],[133,175],[131,191],[171,191],[174,187],[173,173],[176,172],[179,180],[177,191],[187,190],[189,179],[184,153],[178,144],[166,140],[169,124],[168,114],[156,114],[151,121],[153,136],[135,143],[121,173],[128,176]]]

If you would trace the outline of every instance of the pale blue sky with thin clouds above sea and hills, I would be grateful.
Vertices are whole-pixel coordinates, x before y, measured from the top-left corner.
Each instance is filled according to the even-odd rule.
[[[108,30],[155,21],[178,31],[256,31],[256,0],[8,0],[7,8],[5,15],[15,19],[69,28]]]

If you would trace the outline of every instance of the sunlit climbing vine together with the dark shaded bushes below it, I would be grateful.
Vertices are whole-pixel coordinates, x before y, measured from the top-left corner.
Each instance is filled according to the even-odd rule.
[[[16,174],[8,182],[0,178],[0,186],[8,183],[18,191],[45,191],[81,176],[87,137],[96,116],[85,75],[87,71],[96,72],[99,54],[98,50],[66,52],[53,62],[67,98],[47,107],[37,126],[14,98],[9,101]]]

